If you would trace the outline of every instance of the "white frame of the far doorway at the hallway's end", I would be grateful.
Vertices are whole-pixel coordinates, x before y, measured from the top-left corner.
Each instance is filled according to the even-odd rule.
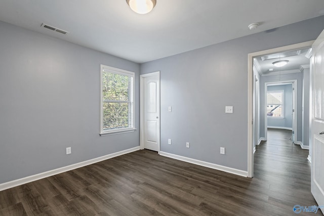
[[[298,113],[298,109],[297,109],[297,79],[293,79],[293,80],[282,80],[282,81],[273,81],[273,82],[265,82],[264,83],[264,109],[265,109],[265,115],[264,115],[264,139],[268,140],[268,132],[267,132],[267,125],[268,125],[268,116],[267,116],[267,101],[265,100],[267,98],[267,92],[268,92],[268,84],[280,84],[280,83],[294,83],[293,86],[295,88],[294,91],[294,104],[293,107],[295,108],[295,112],[293,112],[294,118],[293,118],[293,131],[294,133],[294,140],[295,140],[295,144],[297,144],[297,113]]]

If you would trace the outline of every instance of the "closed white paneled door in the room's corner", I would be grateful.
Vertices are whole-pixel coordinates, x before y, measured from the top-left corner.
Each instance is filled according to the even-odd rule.
[[[160,150],[160,91],[159,73],[142,75],[143,125],[142,142],[145,149]]]

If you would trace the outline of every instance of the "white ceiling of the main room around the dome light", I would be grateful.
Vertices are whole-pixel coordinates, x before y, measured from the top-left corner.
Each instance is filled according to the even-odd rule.
[[[146,15],[126,0],[0,1],[1,21],[138,63],[321,15],[323,0],[157,0]],[[261,25],[251,31],[253,22]]]

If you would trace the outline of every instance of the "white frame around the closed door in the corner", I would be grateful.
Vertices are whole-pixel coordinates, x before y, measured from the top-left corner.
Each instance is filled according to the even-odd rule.
[[[152,73],[145,73],[140,75],[140,149],[144,149],[144,78],[149,77],[149,76],[155,76],[158,75],[158,81],[160,82],[160,71],[152,72]],[[159,85],[160,87],[160,85]],[[160,93],[160,90],[158,90]],[[160,95],[159,97],[160,98]],[[160,110],[160,107],[158,107]],[[160,111],[158,112],[160,113]],[[158,116],[160,118],[160,116]],[[161,122],[161,121],[159,121]],[[160,128],[160,125],[159,125]],[[160,153],[160,132],[158,133],[158,140],[159,140],[159,145],[158,145],[158,154]]]

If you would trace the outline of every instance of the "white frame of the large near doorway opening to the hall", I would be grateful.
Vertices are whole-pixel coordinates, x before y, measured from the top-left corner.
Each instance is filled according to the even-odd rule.
[[[248,55],[248,177],[253,177],[254,157],[253,157],[253,58],[262,55],[280,53],[288,50],[297,50],[311,47],[314,40],[301,42],[299,44],[285,47],[263,50]]]

